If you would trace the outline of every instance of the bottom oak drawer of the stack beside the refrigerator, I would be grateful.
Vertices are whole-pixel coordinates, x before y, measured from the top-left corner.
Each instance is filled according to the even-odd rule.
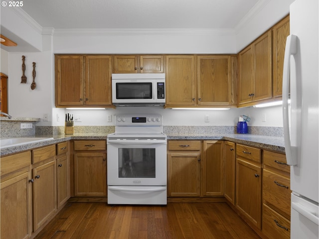
[[[268,238],[290,239],[290,221],[263,205],[263,229]]]

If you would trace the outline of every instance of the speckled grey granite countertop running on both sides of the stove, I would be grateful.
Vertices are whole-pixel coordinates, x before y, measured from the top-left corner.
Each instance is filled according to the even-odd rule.
[[[62,135],[36,135],[36,137],[53,137],[51,140],[29,143],[19,146],[13,146],[0,149],[0,155],[7,155],[17,153],[24,150],[31,150],[33,148],[46,146],[53,143],[60,143],[71,139],[100,139],[106,140],[107,134],[62,134]],[[195,140],[229,140],[235,143],[242,143],[253,147],[274,150],[278,152],[285,152],[284,138],[263,136],[257,134],[214,134],[214,133],[167,133],[167,139],[195,139]]]

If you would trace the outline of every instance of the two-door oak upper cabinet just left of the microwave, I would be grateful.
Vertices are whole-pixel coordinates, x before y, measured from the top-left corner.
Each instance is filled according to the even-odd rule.
[[[112,57],[55,55],[56,107],[111,107]]]

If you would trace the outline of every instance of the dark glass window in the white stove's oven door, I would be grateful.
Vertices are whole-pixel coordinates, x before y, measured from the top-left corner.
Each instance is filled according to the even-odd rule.
[[[119,178],[155,178],[155,148],[119,148]]]

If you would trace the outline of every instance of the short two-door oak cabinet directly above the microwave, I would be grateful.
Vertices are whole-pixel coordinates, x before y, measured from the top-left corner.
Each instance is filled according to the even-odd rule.
[[[163,73],[161,55],[116,55],[113,58],[113,73]]]

